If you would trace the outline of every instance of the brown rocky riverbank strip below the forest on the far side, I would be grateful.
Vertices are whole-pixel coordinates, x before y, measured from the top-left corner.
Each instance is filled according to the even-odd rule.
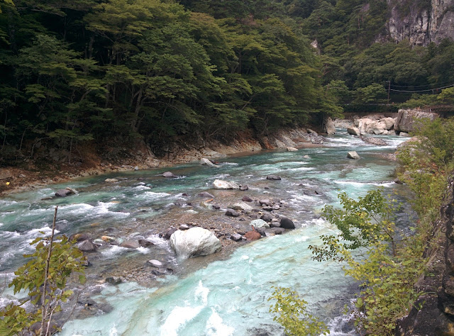
[[[77,177],[88,177],[114,172],[172,167],[176,164],[196,162],[203,157],[221,159],[228,155],[257,153],[262,150],[321,147],[323,138],[308,128],[286,128],[269,136],[256,138],[250,133],[239,134],[233,142],[224,144],[212,140],[205,145],[173,147],[165,157],[156,157],[143,143],[130,149],[127,157],[106,159],[92,146],[81,148],[82,162],[62,162],[55,152],[47,160],[24,159],[21,164],[0,169],[0,196],[38,189],[42,186],[63,183]]]

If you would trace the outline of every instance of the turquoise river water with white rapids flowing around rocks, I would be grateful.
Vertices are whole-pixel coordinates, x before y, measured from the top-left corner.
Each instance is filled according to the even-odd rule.
[[[87,268],[84,293],[109,309],[73,315],[60,335],[282,335],[282,327],[269,313],[272,286],[297,291],[311,312],[328,323],[331,335],[355,335],[342,313],[353,298],[355,284],[343,276],[339,264],[311,260],[308,246],[333,232],[320,211],[326,204],[337,204],[339,192],[358,197],[379,186],[389,192],[404,188],[391,177],[394,162],[381,154],[394,152],[406,139],[381,138],[386,146],[367,145],[341,132],[326,138],[323,147],[229,157],[217,168],[173,167],[177,179],[157,176],[163,169],[123,172],[11,194],[0,199],[0,271],[7,281],[12,279],[23,263],[22,254],[33,251],[29,242],[50,232],[58,205],[59,233],[85,232],[120,240],[143,237],[155,243],[136,250],[104,245],[89,254],[92,266]],[[347,159],[350,150],[361,159]],[[268,174],[282,180],[266,180]],[[108,177],[118,182],[106,183]],[[214,190],[214,179],[248,184],[249,190]],[[65,186],[78,194],[42,200]],[[201,191],[214,194],[221,209],[200,206],[196,195]],[[187,260],[176,259],[168,241],[157,235],[172,225],[199,221],[243,230],[250,219],[241,222],[223,213],[245,195],[283,201],[274,212],[292,218],[297,229],[251,243],[232,241],[222,252]],[[154,276],[152,267],[143,266],[149,259],[161,260],[174,272]],[[112,275],[126,281],[117,285],[101,281]],[[12,291],[6,289],[0,305],[11,299]]]

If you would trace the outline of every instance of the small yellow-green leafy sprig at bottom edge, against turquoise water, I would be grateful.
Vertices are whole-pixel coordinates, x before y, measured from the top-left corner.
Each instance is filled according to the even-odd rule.
[[[298,293],[288,288],[276,287],[268,301],[276,300],[270,307],[275,314],[273,320],[284,327],[289,336],[328,335],[325,323],[314,318],[307,311],[307,302],[299,298]]]

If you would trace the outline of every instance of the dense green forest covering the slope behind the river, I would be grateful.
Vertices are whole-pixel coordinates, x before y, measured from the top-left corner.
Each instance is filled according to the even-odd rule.
[[[454,83],[453,42],[386,40],[383,0],[0,6],[3,163],[43,143],[74,150],[107,139],[163,155],[163,144],[185,137],[266,134],[380,106],[390,87]],[[392,101],[410,98],[421,101],[411,93]]]

